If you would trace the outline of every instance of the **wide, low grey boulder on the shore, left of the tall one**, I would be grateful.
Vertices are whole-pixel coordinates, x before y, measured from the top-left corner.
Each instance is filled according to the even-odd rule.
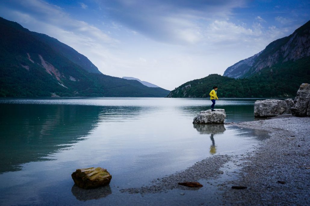
[[[279,99],[257,100],[254,103],[255,117],[273,117],[283,114],[287,109],[287,104]]]

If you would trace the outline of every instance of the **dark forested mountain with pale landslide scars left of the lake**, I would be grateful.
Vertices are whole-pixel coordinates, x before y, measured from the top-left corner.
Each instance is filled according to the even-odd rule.
[[[87,57],[0,17],[0,96],[164,97],[169,91],[102,74]]]

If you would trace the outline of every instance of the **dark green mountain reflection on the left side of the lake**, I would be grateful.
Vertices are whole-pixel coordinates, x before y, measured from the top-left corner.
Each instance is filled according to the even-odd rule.
[[[1,104],[0,174],[27,162],[53,160],[53,153],[85,140],[102,119],[124,121],[139,107]]]

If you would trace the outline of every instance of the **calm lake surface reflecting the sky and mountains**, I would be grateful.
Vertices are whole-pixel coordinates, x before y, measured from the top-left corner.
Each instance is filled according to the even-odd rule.
[[[225,122],[255,120],[256,99],[223,99]],[[128,194],[216,154],[239,154],[268,134],[193,125],[209,99],[0,99],[0,205],[189,205],[212,192]],[[109,186],[74,186],[78,168],[103,167]],[[209,196],[207,195],[209,194]],[[212,197],[216,198],[216,197]]]

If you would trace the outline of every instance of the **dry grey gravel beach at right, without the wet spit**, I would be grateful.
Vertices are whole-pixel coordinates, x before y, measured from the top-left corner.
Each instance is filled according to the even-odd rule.
[[[272,133],[253,154],[239,159],[245,163],[238,179],[223,186],[223,205],[310,205],[310,117],[285,115],[236,125]]]

